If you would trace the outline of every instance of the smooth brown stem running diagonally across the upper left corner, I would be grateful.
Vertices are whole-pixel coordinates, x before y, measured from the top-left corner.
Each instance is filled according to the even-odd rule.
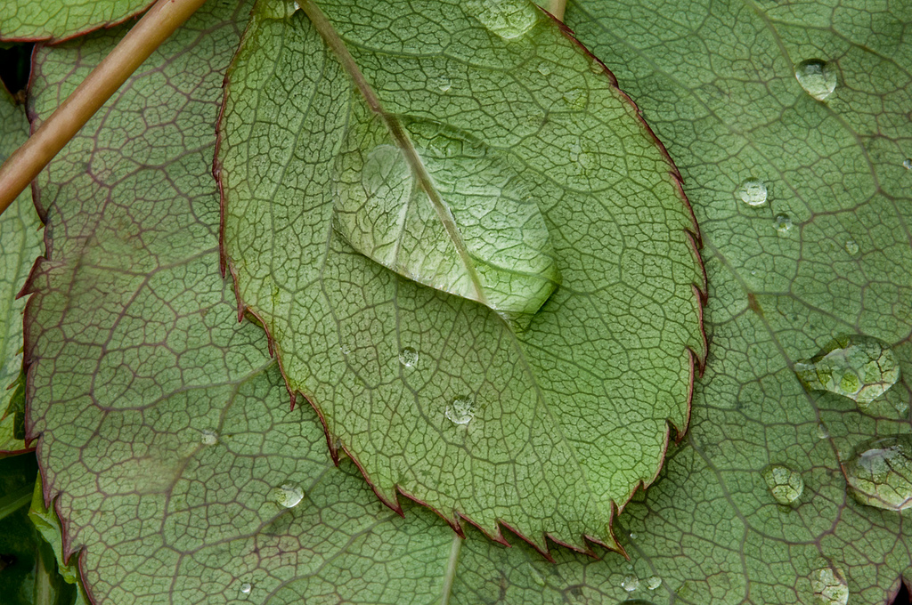
[[[0,213],[28,187],[79,128],[205,0],[158,0],[140,22],[0,166]]]

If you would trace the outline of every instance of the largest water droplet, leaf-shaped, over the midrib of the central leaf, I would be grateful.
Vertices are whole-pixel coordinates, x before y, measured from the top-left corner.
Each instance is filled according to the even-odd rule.
[[[523,325],[561,279],[536,201],[499,152],[437,123],[406,127],[414,149],[369,116],[351,128],[337,231],[373,261]]]

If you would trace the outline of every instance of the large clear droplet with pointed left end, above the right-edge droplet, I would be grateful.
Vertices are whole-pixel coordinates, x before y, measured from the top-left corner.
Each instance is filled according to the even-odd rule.
[[[893,350],[870,336],[837,336],[820,354],[795,363],[794,371],[809,391],[844,395],[862,407],[899,380]]]

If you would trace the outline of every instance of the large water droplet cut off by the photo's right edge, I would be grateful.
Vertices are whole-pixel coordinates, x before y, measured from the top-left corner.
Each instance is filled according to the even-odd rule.
[[[912,436],[869,441],[843,465],[849,492],[869,507],[912,507]]]

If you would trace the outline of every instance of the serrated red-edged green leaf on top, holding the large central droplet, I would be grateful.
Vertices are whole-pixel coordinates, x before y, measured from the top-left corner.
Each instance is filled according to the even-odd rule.
[[[402,493],[543,550],[613,545],[615,508],[687,426],[703,354],[694,224],[664,149],[527,2],[285,6],[254,9],[217,161],[223,251],[290,390],[394,508]],[[484,288],[515,284],[511,321],[466,300],[490,290],[452,230],[515,253],[506,272],[476,264]]]

